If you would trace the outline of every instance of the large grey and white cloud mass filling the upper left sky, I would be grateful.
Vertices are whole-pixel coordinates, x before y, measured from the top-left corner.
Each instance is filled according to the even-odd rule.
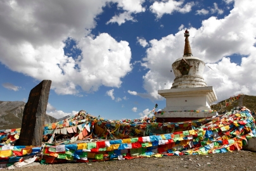
[[[0,62],[36,80],[53,80],[51,88],[57,94],[80,96],[77,87],[86,92],[98,91],[101,85],[120,87],[120,79],[132,70],[128,42],[105,33],[89,35],[104,6],[106,1],[2,2]],[[68,37],[82,51],[79,58],[65,56],[63,41]]]

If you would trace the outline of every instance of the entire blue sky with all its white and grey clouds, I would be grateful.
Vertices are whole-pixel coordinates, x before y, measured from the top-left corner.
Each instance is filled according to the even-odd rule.
[[[47,113],[120,120],[165,108],[189,30],[218,101],[256,96],[255,0],[0,0],[0,101],[52,80]]]

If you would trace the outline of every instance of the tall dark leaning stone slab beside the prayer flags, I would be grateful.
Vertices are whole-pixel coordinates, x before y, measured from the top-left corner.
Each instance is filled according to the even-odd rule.
[[[41,146],[51,80],[42,80],[29,94],[22,118],[18,145]]]

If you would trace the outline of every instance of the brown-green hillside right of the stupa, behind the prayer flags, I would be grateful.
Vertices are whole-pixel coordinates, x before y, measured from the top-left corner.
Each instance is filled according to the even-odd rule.
[[[216,110],[219,113],[223,113],[225,110],[230,111],[236,106],[246,106],[250,111],[256,111],[256,96],[249,96],[241,94],[225,99],[216,105],[212,105],[212,110]]]

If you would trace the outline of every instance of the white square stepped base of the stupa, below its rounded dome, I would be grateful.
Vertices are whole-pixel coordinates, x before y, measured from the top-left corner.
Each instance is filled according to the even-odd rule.
[[[184,122],[216,115],[210,109],[217,100],[212,86],[159,90],[158,94],[166,99],[166,107],[155,115],[157,122]]]

